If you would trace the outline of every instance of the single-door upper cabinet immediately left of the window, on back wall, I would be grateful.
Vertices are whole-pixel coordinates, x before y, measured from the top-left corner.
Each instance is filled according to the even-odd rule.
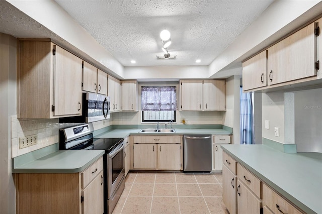
[[[122,111],[138,111],[138,84],[136,80],[122,81]]]

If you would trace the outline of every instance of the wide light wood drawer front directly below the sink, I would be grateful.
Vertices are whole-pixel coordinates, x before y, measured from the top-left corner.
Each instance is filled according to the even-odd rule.
[[[181,143],[182,135],[137,135],[133,143]]]

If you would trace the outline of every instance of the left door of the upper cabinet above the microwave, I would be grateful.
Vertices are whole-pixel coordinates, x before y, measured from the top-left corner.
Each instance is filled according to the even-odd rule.
[[[97,92],[97,68],[83,61],[83,90]]]

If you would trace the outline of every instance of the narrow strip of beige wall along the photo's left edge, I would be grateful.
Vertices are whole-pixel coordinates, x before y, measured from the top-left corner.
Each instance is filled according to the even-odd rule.
[[[16,39],[0,34],[0,213],[16,213],[10,116],[16,115]]]

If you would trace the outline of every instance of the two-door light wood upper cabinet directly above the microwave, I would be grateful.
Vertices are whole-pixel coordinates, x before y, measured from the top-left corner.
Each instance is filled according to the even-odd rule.
[[[107,95],[107,73],[83,61],[82,89]]]

